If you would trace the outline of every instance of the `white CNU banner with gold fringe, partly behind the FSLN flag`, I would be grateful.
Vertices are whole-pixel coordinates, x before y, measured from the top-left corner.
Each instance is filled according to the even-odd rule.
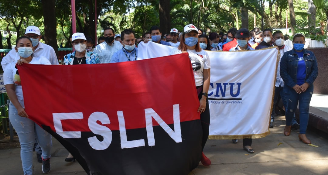
[[[167,56],[172,49],[141,42],[138,59]],[[208,51],[210,139],[261,138],[270,133],[278,53],[275,47],[240,52]]]

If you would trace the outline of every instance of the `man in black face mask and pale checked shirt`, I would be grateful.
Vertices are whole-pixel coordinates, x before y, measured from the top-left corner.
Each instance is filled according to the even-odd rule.
[[[104,30],[105,42],[94,48],[93,52],[98,54],[100,63],[110,63],[115,52],[122,49],[122,44],[114,40],[114,30],[110,27]]]

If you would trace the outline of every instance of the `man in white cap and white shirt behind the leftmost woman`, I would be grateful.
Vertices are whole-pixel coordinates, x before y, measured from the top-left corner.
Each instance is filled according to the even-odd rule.
[[[51,64],[58,65],[58,59],[53,48],[47,44],[41,43],[40,29],[36,26],[29,26],[26,28],[25,36],[32,40],[34,57],[44,56]],[[7,64],[19,60],[19,55],[13,48],[5,57],[2,58],[1,66],[5,71]]]

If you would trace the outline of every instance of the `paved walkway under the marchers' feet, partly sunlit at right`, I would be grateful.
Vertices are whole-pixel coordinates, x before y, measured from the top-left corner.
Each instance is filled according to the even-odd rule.
[[[298,141],[297,132],[289,137],[283,135],[285,118],[277,117],[271,134],[262,139],[253,139],[254,154],[242,149],[242,141],[233,144],[231,140],[208,140],[205,154],[211,159],[210,167],[198,166],[190,175],[310,175],[328,174],[328,140],[308,131],[308,138],[314,145]],[[278,145],[279,143],[282,143]],[[68,151],[55,139],[51,157],[51,174],[85,175],[77,162],[64,161]],[[36,162],[34,153],[34,175],[43,174],[41,163]],[[22,175],[20,149],[0,150],[0,175]]]

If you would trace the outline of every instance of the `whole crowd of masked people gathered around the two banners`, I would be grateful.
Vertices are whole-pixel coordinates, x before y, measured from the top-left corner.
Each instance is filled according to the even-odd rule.
[[[211,32],[207,35],[201,29],[197,29],[195,25],[189,24],[184,27],[182,32],[173,28],[169,34],[164,35],[157,26],[151,27],[150,31],[144,33],[140,38],[136,38],[130,29],[123,30],[119,36],[115,37],[112,28],[105,28],[103,35],[94,47],[92,38],[86,37],[84,33],[73,33],[72,46],[75,51],[65,55],[64,64],[135,61],[138,56],[137,46],[140,42],[154,42],[172,46],[174,49],[170,55],[188,53],[192,63],[200,63],[200,65],[193,67],[193,71],[195,88],[200,103],[195,110],[200,113],[200,120],[202,121],[203,149],[208,139],[210,124],[207,93],[210,86],[211,63],[206,51],[238,52],[276,46],[281,57],[278,63],[274,103],[269,127],[274,127],[275,107],[278,99],[281,98],[286,111],[284,135],[289,136],[291,130],[300,129],[299,140],[306,144],[311,143],[306,137],[306,128],[309,117],[309,104],[313,93],[313,82],[318,76],[318,65],[313,52],[304,49],[305,37],[303,34],[296,34],[293,37],[293,48],[284,44],[285,36],[281,31],[273,33],[271,29],[260,31],[258,28],[251,31],[246,28],[239,30],[231,28],[226,34]],[[48,173],[51,169],[51,135],[46,134],[44,136],[45,131],[28,118],[28,114],[24,109],[22,86],[16,67],[16,65],[21,64],[58,64],[54,49],[40,42],[40,39],[39,28],[29,26],[25,35],[17,38],[16,47],[1,61],[4,70],[4,84],[10,98],[9,118],[20,140],[24,175],[32,174],[33,150],[37,152],[38,162],[42,163],[42,171]],[[295,119],[297,104],[299,104],[300,124]],[[237,139],[232,141],[238,143]],[[255,151],[251,145],[251,138],[243,139],[243,149],[249,153],[254,153]],[[74,160],[74,157],[70,154],[65,161]],[[205,166],[211,165],[210,159],[204,153],[202,153],[200,160]]]

